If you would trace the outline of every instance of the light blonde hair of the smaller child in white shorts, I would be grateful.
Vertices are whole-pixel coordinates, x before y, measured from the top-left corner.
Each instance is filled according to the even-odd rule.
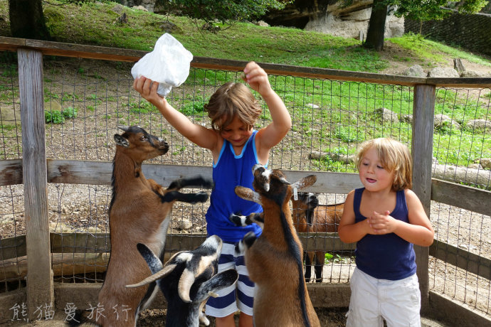
[[[375,149],[377,156],[386,171],[394,172],[394,191],[413,187],[413,160],[405,144],[388,137],[364,141],[355,157],[355,165],[359,169],[361,159],[366,151]]]

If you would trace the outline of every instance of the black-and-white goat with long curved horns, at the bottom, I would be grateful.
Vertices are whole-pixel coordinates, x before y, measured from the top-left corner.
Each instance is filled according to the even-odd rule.
[[[218,271],[222,240],[213,235],[192,251],[174,254],[162,267],[159,258],[146,245],[137,245],[152,276],[127,287],[139,287],[157,281],[167,300],[167,327],[198,327],[199,322],[209,325],[203,307],[209,296],[237,282],[238,272]]]

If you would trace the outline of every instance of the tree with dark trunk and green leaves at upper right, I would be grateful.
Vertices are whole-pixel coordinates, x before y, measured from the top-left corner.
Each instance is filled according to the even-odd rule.
[[[443,6],[448,6],[449,3],[453,4],[460,13],[473,14],[480,11],[487,4],[487,0],[374,0],[364,47],[374,48],[377,51],[384,48],[385,20],[389,6],[396,7],[396,16],[405,16],[423,22],[448,16],[450,11]]]

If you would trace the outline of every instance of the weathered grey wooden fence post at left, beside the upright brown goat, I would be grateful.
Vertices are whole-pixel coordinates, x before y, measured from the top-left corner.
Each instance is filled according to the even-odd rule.
[[[27,309],[30,319],[54,310],[48,222],[43,54],[19,48],[22,173],[26,210]]]

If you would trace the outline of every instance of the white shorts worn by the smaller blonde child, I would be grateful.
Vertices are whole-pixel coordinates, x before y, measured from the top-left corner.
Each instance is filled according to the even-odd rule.
[[[421,326],[421,292],[418,276],[398,281],[376,279],[354,269],[347,327]]]

